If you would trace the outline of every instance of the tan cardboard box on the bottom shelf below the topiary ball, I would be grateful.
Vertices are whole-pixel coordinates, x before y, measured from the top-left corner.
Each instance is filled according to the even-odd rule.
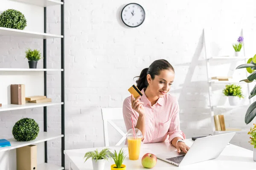
[[[37,146],[28,145],[16,149],[17,170],[37,170]]]

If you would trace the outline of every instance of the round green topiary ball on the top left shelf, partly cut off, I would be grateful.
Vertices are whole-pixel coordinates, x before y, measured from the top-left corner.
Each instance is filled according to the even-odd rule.
[[[26,27],[26,18],[20,11],[7,9],[0,14],[0,27],[22,30]]]

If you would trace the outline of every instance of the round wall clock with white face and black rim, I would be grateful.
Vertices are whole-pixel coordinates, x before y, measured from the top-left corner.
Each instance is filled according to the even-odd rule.
[[[139,4],[130,3],[122,9],[121,18],[126,26],[137,27],[145,20],[145,11]]]

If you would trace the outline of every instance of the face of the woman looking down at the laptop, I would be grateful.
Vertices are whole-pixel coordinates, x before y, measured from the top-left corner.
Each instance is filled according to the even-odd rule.
[[[162,70],[158,76],[151,79],[150,74],[147,75],[148,88],[150,88],[152,95],[163,97],[170,90],[172,82],[174,80],[174,71]]]

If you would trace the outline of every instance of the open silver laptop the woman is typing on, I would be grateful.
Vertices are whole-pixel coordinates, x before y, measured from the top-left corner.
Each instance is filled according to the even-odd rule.
[[[221,154],[235,134],[236,132],[232,132],[198,138],[186,154],[183,152],[177,153],[177,151],[172,151],[169,153],[156,154],[156,156],[158,159],[179,167],[215,159]]]

